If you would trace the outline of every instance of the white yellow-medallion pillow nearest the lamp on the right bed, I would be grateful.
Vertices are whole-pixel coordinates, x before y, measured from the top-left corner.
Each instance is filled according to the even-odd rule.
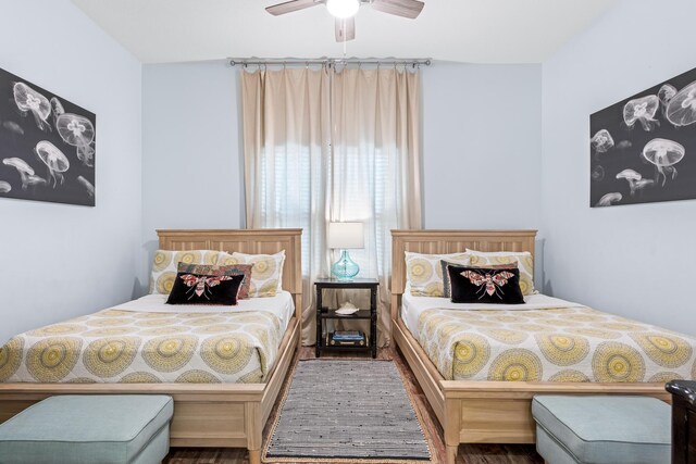
[[[445,294],[440,260],[469,264],[465,252],[449,254],[423,254],[406,252],[406,284],[414,297],[442,297]]]

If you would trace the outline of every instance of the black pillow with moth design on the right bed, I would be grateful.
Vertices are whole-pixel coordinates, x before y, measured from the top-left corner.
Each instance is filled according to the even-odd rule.
[[[524,304],[520,269],[447,266],[452,303]]]

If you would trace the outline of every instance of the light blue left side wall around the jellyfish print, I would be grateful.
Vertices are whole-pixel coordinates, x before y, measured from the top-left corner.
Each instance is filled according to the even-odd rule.
[[[1,344],[129,300],[142,268],[139,62],[67,0],[0,12],[0,67],[97,114],[96,208],[0,199]]]

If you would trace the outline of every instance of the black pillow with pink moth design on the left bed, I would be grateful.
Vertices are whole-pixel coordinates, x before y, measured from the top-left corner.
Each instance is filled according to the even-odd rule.
[[[177,273],[166,304],[237,304],[237,293],[244,280],[244,274],[206,275]]]

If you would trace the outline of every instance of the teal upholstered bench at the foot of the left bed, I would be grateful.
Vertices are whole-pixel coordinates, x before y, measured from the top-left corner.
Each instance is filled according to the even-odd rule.
[[[174,402],[160,394],[48,398],[0,424],[0,464],[154,464]]]

